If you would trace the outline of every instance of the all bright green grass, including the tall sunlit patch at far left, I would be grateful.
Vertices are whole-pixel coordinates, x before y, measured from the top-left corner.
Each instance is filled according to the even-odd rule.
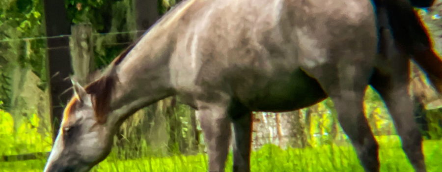
[[[14,155],[30,152],[49,151],[49,134],[37,132],[38,118],[29,116],[29,122],[14,127],[12,117],[0,110],[0,155]],[[380,144],[382,172],[412,172],[400,147],[397,136],[377,137]],[[425,141],[424,154],[428,172],[442,172],[442,141]],[[207,172],[207,156],[175,155],[167,157],[149,157],[121,160],[118,153],[136,155],[149,154],[145,146],[142,151],[118,149],[114,147],[110,156],[98,164],[93,172]],[[152,152],[152,151],[151,151]],[[46,157],[37,160],[1,162],[0,172],[41,172]],[[273,144],[266,144],[252,152],[252,172],[362,172],[359,161],[348,143],[343,145],[327,144],[309,148],[281,149]],[[232,160],[228,157],[226,171],[231,172]]]

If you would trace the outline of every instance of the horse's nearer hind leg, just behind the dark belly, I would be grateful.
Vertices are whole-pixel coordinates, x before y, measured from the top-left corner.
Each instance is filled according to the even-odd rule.
[[[333,101],[339,124],[353,144],[364,170],[379,172],[379,146],[363,111],[363,96],[368,85],[369,68],[356,64],[340,67],[334,64],[333,67],[331,64],[330,67],[324,66],[322,69],[331,71],[318,70],[316,73],[314,71],[309,73],[315,76]]]

